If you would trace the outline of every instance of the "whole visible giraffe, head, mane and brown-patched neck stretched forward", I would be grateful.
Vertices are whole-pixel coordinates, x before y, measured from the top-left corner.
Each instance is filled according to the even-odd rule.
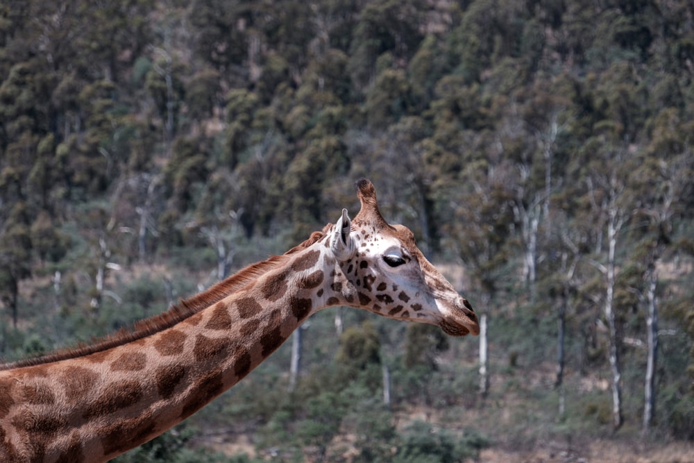
[[[105,462],[185,420],[242,380],[317,310],[346,305],[477,335],[477,316],[381,216],[369,180],[284,255],[253,264],[133,330],[0,365],[0,462]]]

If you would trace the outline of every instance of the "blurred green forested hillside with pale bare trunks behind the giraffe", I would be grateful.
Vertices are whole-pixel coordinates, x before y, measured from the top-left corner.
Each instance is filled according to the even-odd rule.
[[[691,462],[693,142],[690,0],[3,0],[0,357],[283,253],[367,177],[482,335],[325,310],[114,461]]]

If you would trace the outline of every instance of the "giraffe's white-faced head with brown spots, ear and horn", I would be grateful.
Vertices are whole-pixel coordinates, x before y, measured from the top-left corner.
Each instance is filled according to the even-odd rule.
[[[342,210],[329,232],[342,301],[384,317],[431,323],[448,335],[479,334],[470,303],[424,257],[412,232],[383,219],[371,182],[359,180],[357,189],[361,210],[353,221]]]

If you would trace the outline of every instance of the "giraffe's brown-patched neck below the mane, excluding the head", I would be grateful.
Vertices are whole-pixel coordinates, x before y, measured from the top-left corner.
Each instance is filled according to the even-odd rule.
[[[101,462],[180,423],[244,378],[326,301],[337,302],[325,275],[335,262],[325,262],[324,249],[323,240],[312,244],[153,335],[0,371],[0,457]]]

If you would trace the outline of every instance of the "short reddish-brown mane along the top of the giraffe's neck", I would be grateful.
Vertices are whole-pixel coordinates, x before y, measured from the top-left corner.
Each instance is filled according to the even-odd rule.
[[[328,230],[328,228],[330,228],[331,225],[332,224],[326,225],[325,228],[323,228],[323,231],[315,231],[303,243],[294,246],[286,253],[282,255],[271,255],[262,262],[250,264],[248,267],[237,271],[237,273],[234,273],[232,276],[229,276],[221,282],[212,285],[212,287],[206,289],[205,291],[191,296],[190,298],[183,299],[178,304],[172,305],[171,308],[165,312],[135,322],[131,328],[121,328],[120,330],[110,335],[106,335],[105,337],[94,338],[89,344],[81,342],[76,346],[61,348],[40,357],[26,358],[17,360],[15,362],[0,363],[0,371],[58,362],[60,360],[67,360],[82,357],[83,355],[90,355],[92,353],[106,351],[110,348],[120,346],[121,344],[137,341],[137,339],[148,337],[153,335],[155,332],[171,328],[171,326],[176,325],[176,323],[180,323],[180,321],[187,319],[200,310],[221,301],[221,299],[239,291],[240,289],[243,289],[246,287],[246,285],[253,282],[253,280],[264,275],[265,273],[280,267],[289,259],[292,254],[306,249],[308,246],[311,246],[323,238],[323,236],[325,236],[325,232]]]

